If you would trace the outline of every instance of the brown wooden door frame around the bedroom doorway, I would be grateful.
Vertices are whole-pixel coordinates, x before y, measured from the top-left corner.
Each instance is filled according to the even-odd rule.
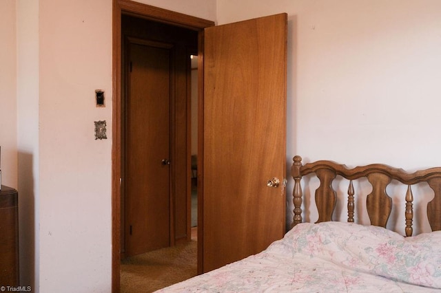
[[[203,30],[210,26],[214,26],[214,21],[192,17],[187,14],[165,10],[148,6],[130,0],[113,0],[112,15],[112,292],[120,292],[120,270],[121,270],[121,15],[130,14],[134,17],[140,17],[167,23],[178,27],[196,30],[198,32],[198,109],[202,109],[203,105]],[[203,116],[198,111],[198,132],[203,127]],[[201,138],[198,139],[201,142]],[[201,143],[198,143],[198,153],[203,151]],[[202,158],[199,153],[198,158]],[[200,159],[198,159],[200,160]],[[200,162],[198,162],[200,163]],[[202,166],[202,164],[198,164]],[[198,168],[199,174],[202,173]],[[202,190],[202,182],[198,182],[198,190]],[[202,201],[203,195],[198,193],[199,200]],[[198,204],[198,224],[201,224],[201,206]],[[198,225],[202,227],[202,225]],[[201,229],[198,229],[198,239],[203,237]],[[198,272],[201,268],[201,246],[198,241]]]

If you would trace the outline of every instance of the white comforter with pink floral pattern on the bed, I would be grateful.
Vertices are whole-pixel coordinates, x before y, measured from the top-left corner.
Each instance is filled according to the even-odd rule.
[[[160,292],[441,292],[441,232],[299,224],[266,250]]]

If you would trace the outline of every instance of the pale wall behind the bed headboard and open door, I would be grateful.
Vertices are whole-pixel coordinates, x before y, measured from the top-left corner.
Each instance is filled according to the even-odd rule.
[[[441,166],[441,1],[217,1],[218,24],[279,12],[289,19],[289,166],[297,154]]]

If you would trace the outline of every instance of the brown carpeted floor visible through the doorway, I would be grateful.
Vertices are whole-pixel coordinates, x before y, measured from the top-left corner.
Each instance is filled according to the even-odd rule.
[[[121,292],[154,292],[196,276],[197,242],[180,243],[121,261]]]

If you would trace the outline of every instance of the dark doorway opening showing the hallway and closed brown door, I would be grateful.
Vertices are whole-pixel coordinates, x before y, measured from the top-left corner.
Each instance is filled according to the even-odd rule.
[[[138,279],[141,287],[150,288],[154,279],[161,279],[158,286],[171,285],[181,278],[163,277],[169,272],[158,270],[158,261],[171,266],[167,263],[177,256],[166,257],[163,250],[192,241],[189,227],[194,230],[194,226],[189,219],[194,219],[194,213],[189,197],[192,206],[197,206],[188,157],[194,154],[189,150],[194,116],[189,107],[190,56],[197,54],[198,34],[129,15],[122,16],[121,31],[121,285],[137,283],[134,279],[140,275],[144,275]],[[196,250],[174,251],[189,254],[192,259],[186,262],[192,266],[184,276],[195,276]],[[159,260],[157,253],[163,254]],[[162,275],[155,274],[149,281],[152,270]]]

